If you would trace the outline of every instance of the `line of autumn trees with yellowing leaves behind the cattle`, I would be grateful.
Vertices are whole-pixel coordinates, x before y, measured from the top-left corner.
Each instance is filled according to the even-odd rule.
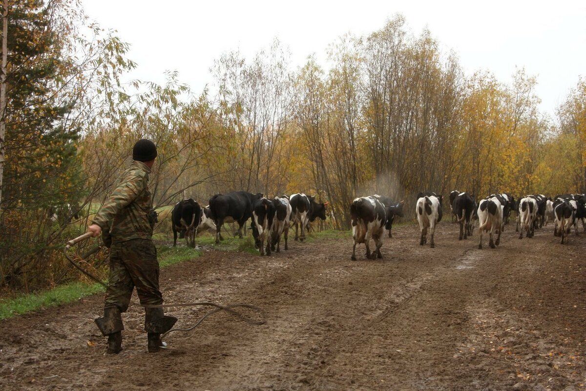
[[[405,199],[409,216],[420,191],[586,191],[585,80],[550,118],[536,77],[465,74],[456,53],[400,15],[336,39],[327,69],[311,56],[294,69],[278,40],[252,59],[223,53],[210,70],[213,92],[195,94],[175,72],[163,85],[122,83],[135,67],[128,44],[88,24],[73,0],[6,6],[4,288],[74,278],[62,244],[84,231],[138,138],[158,145],[159,210],[183,198],[206,205],[220,192],[305,192],[349,229],[350,203],[373,193]]]

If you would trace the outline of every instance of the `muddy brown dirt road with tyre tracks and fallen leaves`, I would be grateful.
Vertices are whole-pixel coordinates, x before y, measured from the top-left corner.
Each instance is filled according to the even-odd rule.
[[[2,390],[585,390],[586,234],[553,227],[478,250],[440,223],[436,248],[396,227],[383,260],[351,261],[351,239],[291,241],[270,257],[206,251],[163,268],[167,303],[243,302],[250,325],[214,314],[147,353],[143,311],[123,315],[105,355],[101,295],[0,322]],[[582,228],[580,229],[582,231]],[[173,308],[189,327],[209,308]]]

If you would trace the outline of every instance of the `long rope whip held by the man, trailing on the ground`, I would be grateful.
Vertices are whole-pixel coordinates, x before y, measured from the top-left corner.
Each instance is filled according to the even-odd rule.
[[[73,241],[71,241],[73,242]],[[87,277],[91,278],[91,280],[96,281],[96,283],[102,285],[104,288],[108,288],[108,285],[105,284],[103,281],[100,281],[99,278],[97,278],[96,276],[94,276],[93,274],[89,273],[88,271],[84,270],[81,266],[79,266],[69,255],[69,253],[67,252],[67,250],[70,249],[71,245],[75,244],[71,242],[67,243],[67,246],[65,246],[65,257],[67,258],[67,260],[69,260],[69,262],[75,266],[78,270],[81,271],[81,273],[85,274]],[[77,242],[76,242],[77,243]],[[88,256],[91,256],[95,253],[97,253],[100,249],[102,248],[102,246],[96,246],[93,249],[91,249],[90,251],[88,251],[87,253],[83,254],[83,256],[79,256],[80,259],[85,260]],[[215,314],[216,312],[219,311],[226,311],[228,312],[230,315],[234,315],[235,317],[238,317],[240,319],[242,319],[243,321],[249,323],[249,324],[254,324],[254,325],[261,325],[261,324],[265,324],[265,313],[263,310],[261,310],[258,307],[254,307],[254,305],[250,305],[250,304],[229,304],[229,305],[220,305],[220,304],[215,304],[213,302],[207,302],[207,301],[198,301],[198,302],[188,302],[188,303],[180,303],[180,304],[158,304],[158,305],[153,305],[153,304],[140,304],[140,303],[135,303],[140,305],[141,307],[144,308],[169,308],[169,307],[196,307],[199,305],[207,305],[209,307],[216,307],[216,309],[208,312],[207,314],[203,315],[203,317],[201,319],[199,319],[199,321],[196,322],[195,325],[193,325],[192,327],[189,328],[172,328],[171,330],[165,332],[165,334],[161,335],[161,338],[167,334],[169,334],[172,331],[185,331],[185,332],[189,332],[192,331],[193,329],[195,329],[197,326],[199,326],[204,319],[206,319],[207,317],[209,317],[212,314]],[[254,319],[250,319],[248,317],[246,317],[245,315],[243,315],[241,312],[238,311],[234,311],[233,308],[250,308],[251,310],[254,310],[255,312],[258,312],[258,314],[261,314],[261,317],[263,318],[263,320],[260,321],[256,321]]]

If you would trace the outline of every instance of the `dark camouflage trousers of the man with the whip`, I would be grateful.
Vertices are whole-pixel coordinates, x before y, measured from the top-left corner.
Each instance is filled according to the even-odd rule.
[[[159,290],[159,262],[156,247],[148,239],[132,239],[113,243],[110,248],[110,281],[104,308],[117,307],[125,312],[132,290],[137,288],[141,304],[162,304]]]

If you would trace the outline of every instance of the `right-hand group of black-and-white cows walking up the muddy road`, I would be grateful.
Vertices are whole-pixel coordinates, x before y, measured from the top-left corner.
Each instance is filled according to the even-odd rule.
[[[430,234],[430,246],[435,247],[435,226],[442,219],[443,196],[433,192],[422,192],[417,195],[415,214],[421,230],[419,244],[427,243],[427,234]],[[578,234],[577,221],[582,220],[582,226],[586,229],[586,196],[584,194],[558,195],[554,199],[544,195],[527,195],[515,200],[509,193],[492,194],[477,204],[474,196],[466,192],[452,191],[449,194],[449,208],[452,217],[458,222],[459,240],[472,235],[474,220],[478,220],[480,242],[478,248],[482,249],[482,234],[489,233],[489,246],[493,249],[500,243],[500,234],[509,223],[511,212],[517,213],[516,232],[519,239],[523,239],[523,232],[527,237],[533,237],[534,230],[547,225],[548,220],[553,220],[554,235],[561,236],[564,243],[566,236],[574,226]],[[384,230],[389,230],[394,216],[403,215],[403,202],[395,204],[393,201],[379,195],[356,198],[350,206],[352,217],[352,233],[354,246],[352,248],[352,260],[356,260],[356,244],[366,245],[366,257],[374,259],[382,258],[380,247]],[[496,239],[495,239],[496,236]],[[370,239],[374,240],[376,248],[370,251]]]

